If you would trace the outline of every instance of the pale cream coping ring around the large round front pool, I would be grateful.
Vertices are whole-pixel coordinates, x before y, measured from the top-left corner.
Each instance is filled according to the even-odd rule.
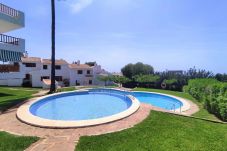
[[[38,116],[33,115],[30,112],[30,107],[34,103],[40,101],[41,99],[60,95],[60,94],[67,94],[72,92],[87,92],[87,89],[82,90],[75,90],[75,91],[68,91],[68,92],[61,92],[61,93],[55,93],[50,94],[46,96],[39,97],[33,101],[26,102],[25,104],[21,105],[16,112],[17,118],[29,125],[37,126],[37,127],[43,127],[43,128],[80,128],[80,127],[88,127],[88,126],[95,126],[100,124],[106,124],[110,122],[114,122],[117,120],[121,120],[123,118],[126,118],[133,113],[135,113],[140,108],[140,102],[131,95],[126,95],[131,101],[132,105],[125,111],[122,111],[120,113],[106,116],[103,118],[97,118],[97,119],[91,119],[91,120],[78,120],[78,121],[63,121],[63,120],[50,120],[50,119],[44,119],[40,118]]]

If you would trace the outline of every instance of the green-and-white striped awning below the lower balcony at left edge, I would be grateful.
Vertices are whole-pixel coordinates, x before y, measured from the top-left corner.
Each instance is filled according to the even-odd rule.
[[[23,56],[23,53],[21,53],[21,52],[8,51],[8,50],[1,50],[0,49],[0,61],[19,62],[19,61],[21,61],[22,56]]]

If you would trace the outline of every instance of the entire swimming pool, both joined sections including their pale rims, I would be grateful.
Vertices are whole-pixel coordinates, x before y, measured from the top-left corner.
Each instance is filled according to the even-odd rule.
[[[84,127],[130,116],[139,109],[140,102],[177,112],[188,109],[183,99],[166,94],[87,89],[56,93],[28,102],[17,110],[17,117],[40,127]]]

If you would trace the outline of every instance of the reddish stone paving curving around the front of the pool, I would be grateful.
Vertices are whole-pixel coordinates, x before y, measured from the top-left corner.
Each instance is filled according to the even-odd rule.
[[[28,101],[34,99],[36,98]],[[182,113],[183,115],[191,115],[199,110],[198,106],[193,102],[188,101],[188,103],[191,109]],[[14,108],[0,115],[0,131],[16,135],[40,137],[40,140],[32,144],[26,151],[73,151],[80,136],[100,135],[131,128],[146,119],[151,110],[169,112],[141,103],[140,108],[134,114],[115,122],[82,128],[50,129],[35,127],[21,122],[16,117],[17,108]]]

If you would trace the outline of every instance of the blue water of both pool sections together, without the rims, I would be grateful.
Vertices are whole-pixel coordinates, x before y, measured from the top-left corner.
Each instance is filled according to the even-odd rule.
[[[112,89],[91,89],[50,96],[32,104],[30,112],[51,120],[89,120],[111,116],[127,110],[133,95],[140,102],[167,110],[178,109],[182,103],[172,97],[146,92],[123,92]]]

